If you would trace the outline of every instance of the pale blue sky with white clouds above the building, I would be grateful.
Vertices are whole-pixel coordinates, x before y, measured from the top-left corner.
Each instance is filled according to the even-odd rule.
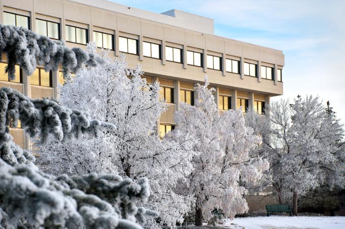
[[[284,95],[330,101],[345,123],[345,0],[113,0],[155,13],[214,19],[215,34],[282,50]]]

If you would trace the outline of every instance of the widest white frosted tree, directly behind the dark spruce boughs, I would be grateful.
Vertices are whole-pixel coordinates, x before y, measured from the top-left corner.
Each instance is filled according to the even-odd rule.
[[[95,47],[88,51],[96,56]],[[175,225],[192,200],[174,188],[192,169],[193,141],[185,136],[183,142],[160,140],[156,122],[166,105],[159,99],[158,83],[148,85],[140,67],[128,69],[124,57],[110,59],[105,53],[102,58],[103,64],[83,66],[72,82],[60,87],[59,102],[113,123],[116,130],[67,145],[51,139],[41,147],[41,166],[51,174],[111,172],[135,181],[147,177],[152,192],[145,206],[160,212],[161,223]]]

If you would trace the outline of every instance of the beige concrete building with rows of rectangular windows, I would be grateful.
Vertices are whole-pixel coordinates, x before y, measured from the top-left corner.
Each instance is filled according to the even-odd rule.
[[[162,14],[105,0],[0,0],[0,23],[23,26],[69,48],[110,49],[125,54],[129,67],[143,66],[149,83],[158,81],[168,109],[157,121],[161,136],[174,129],[179,102],[193,104],[193,86],[207,75],[220,112],[253,107],[264,114],[270,97],[283,94],[284,54],[259,45],[214,34],[213,19],[171,10]],[[6,58],[3,58],[6,60]],[[31,98],[57,97],[63,83],[59,71],[38,69],[31,76],[16,71],[8,81],[0,64],[0,86],[15,88]],[[23,130],[12,128],[17,144],[29,148]]]

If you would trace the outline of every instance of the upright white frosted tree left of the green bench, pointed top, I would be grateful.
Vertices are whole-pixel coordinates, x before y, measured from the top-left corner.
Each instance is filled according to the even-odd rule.
[[[227,217],[246,212],[247,190],[240,182],[259,180],[268,163],[250,157],[260,138],[245,125],[242,112],[229,110],[219,115],[214,88],[208,89],[207,81],[194,89],[195,105],[180,104],[175,114],[177,128],[168,137],[179,134],[195,139],[194,169],[179,190],[196,198],[195,225],[201,225],[214,208],[222,209]]]

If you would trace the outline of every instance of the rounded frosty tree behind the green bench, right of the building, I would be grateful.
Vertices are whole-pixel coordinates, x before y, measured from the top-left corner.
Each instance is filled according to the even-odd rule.
[[[325,184],[344,185],[343,129],[331,108],[316,97],[297,97],[271,103],[268,116],[250,112],[247,123],[262,136],[256,154],[269,163],[269,175],[279,202],[293,199]]]

